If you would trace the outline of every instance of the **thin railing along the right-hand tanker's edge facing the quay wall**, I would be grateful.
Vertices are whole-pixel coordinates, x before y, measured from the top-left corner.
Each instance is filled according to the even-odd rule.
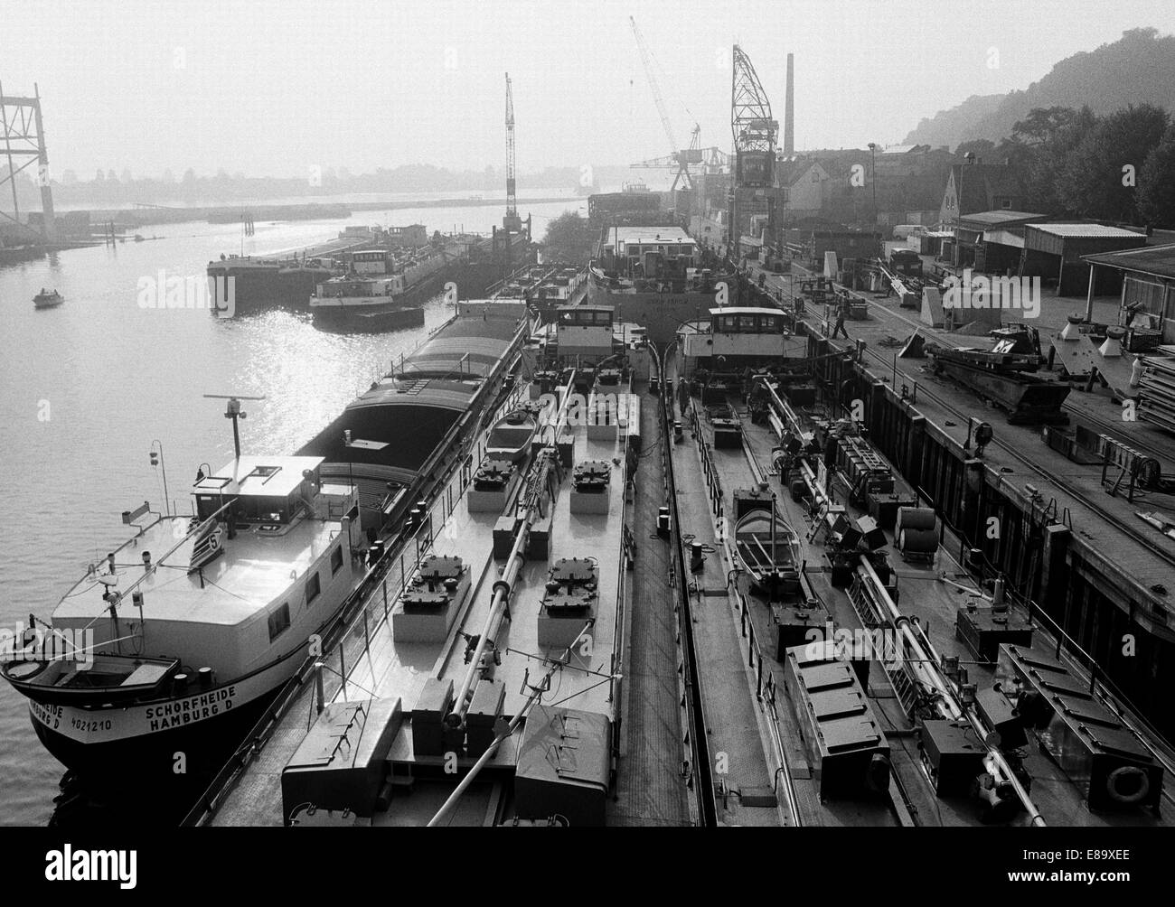
[[[915,490],[919,497],[929,503],[938,513],[940,544],[947,532],[951,532],[958,539],[959,563],[965,569],[969,565],[969,569],[979,575],[980,587],[987,580],[1003,579],[1005,597],[1028,616],[1029,623],[1043,630],[1052,638],[1054,658],[1063,660],[1062,656],[1068,656],[1069,666],[1079,674],[1085,674],[1085,679],[1088,680],[1090,696],[1101,699],[1112,712],[1122,719],[1140,738],[1143,738],[1143,743],[1152,752],[1156,750],[1161,751],[1161,761],[1164,762],[1169,772],[1175,773],[1175,745],[1173,745],[1162,731],[1150,723],[1142,708],[1107,676],[1106,669],[1101,663],[1092,653],[1087,652],[1077,640],[1070,637],[1052,614],[1036,604],[1030,594],[1021,592],[1013,584],[1012,578],[988,559],[987,552],[983,551],[982,546],[975,545],[965,531],[947,518],[946,513],[935,504],[934,498],[922,488]],[[978,563],[973,556],[968,557],[973,551],[980,552]],[[1155,754],[1160,755],[1157,752]]]

